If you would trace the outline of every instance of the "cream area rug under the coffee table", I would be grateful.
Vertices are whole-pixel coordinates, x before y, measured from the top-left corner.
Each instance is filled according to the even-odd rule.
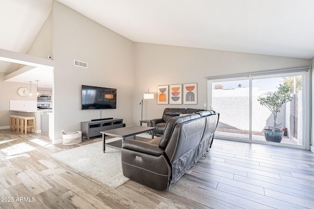
[[[109,139],[106,143],[118,139]],[[104,153],[103,141],[53,153],[51,156],[112,188],[129,181],[122,173],[121,151],[106,147]]]

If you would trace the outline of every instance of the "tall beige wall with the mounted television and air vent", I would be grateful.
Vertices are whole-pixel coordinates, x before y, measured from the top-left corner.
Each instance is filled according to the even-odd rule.
[[[53,2],[54,139],[61,130],[80,130],[81,121],[100,118],[99,110],[80,110],[81,85],[117,89],[117,109],[102,117],[133,119],[133,42],[91,21],[69,7]],[[73,60],[88,63],[88,69]]]

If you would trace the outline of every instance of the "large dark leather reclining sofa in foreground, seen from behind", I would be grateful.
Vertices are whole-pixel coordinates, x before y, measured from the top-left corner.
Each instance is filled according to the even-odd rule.
[[[126,139],[121,161],[124,176],[157,190],[170,189],[208,152],[219,114],[202,111],[170,118],[164,135]]]

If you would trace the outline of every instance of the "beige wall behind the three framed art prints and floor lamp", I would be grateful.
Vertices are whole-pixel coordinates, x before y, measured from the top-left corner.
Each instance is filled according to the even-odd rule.
[[[150,89],[154,100],[145,100],[143,119],[160,118],[166,107],[204,108],[207,76],[310,66],[308,59],[238,53],[180,46],[135,43],[134,123],[141,117],[139,102]],[[197,105],[158,105],[157,86],[198,83]],[[205,107],[204,109],[208,109]]]

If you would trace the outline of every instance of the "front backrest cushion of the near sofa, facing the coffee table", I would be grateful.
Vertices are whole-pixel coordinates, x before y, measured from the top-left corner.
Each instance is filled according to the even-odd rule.
[[[191,115],[187,115],[187,116],[176,116],[176,117],[172,117],[170,118],[167,123],[166,123],[166,127],[165,130],[163,132],[163,136],[160,139],[160,143],[159,143],[159,147],[165,149],[169,139],[171,138],[172,132],[174,127],[178,124],[178,123],[183,123],[189,120],[193,120],[196,118],[200,118],[201,116],[198,114],[191,114]]]

